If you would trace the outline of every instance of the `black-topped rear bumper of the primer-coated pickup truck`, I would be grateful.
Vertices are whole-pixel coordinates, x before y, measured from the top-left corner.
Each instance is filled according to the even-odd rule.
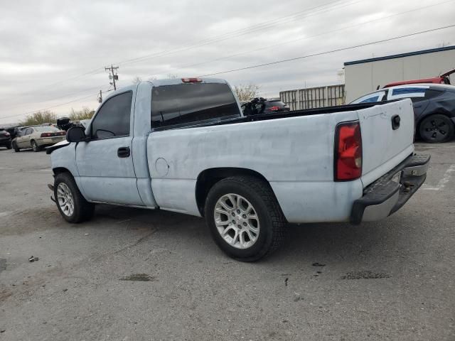
[[[350,222],[381,220],[399,210],[417,192],[427,178],[429,155],[414,154],[392,171],[363,190],[363,197],[355,200]],[[399,177],[399,182],[398,182]]]

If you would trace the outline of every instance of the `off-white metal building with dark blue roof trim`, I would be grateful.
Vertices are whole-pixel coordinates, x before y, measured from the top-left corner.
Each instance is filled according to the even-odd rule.
[[[437,77],[455,68],[455,45],[344,63],[346,103],[390,82]],[[455,75],[450,78],[455,85]]]

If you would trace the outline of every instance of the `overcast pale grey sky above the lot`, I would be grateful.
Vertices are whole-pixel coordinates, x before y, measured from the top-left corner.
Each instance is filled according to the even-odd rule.
[[[455,24],[455,0],[0,0],[0,124],[97,109],[112,89],[196,77]],[[211,77],[262,97],[339,84],[343,63],[455,45],[455,28]],[[441,70],[444,71],[444,70]]]

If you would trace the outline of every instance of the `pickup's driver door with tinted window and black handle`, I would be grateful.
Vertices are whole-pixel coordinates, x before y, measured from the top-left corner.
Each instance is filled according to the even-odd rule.
[[[142,206],[132,158],[133,92],[107,99],[90,124],[90,141],[76,148],[77,171],[88,199]]]

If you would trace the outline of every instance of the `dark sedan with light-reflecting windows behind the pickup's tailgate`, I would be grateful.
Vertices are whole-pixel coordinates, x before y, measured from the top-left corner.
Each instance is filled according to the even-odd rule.
[[[410,98],[414,105],[416,133],[429,143],[451,140],[455,134],[455,86],[400,85],[365,94],[350,104]]]

